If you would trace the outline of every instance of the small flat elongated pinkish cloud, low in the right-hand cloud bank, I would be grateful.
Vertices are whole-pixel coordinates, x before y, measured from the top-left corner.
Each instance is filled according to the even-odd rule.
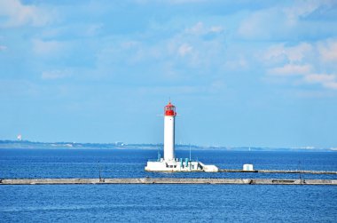
[[[286,64],[283,67],[270,68],[268,73],[275,76],[301,76],[309,74],[310,70],[310,65]]]

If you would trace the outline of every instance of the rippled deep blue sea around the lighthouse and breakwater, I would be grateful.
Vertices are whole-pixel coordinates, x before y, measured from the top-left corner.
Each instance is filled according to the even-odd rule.
[[[176,151],[188,157],[189,151]],[[145,172],[155,150],[0,149],[0,178],[275,178],[336,175]],[[337,171],[334,152],[192,151],[220,168]],[[0,222],[337,222],[337,187],[272,185],[0,186]]]

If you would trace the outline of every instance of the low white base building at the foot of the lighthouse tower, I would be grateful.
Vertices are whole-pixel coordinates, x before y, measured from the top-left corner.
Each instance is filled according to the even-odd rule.
[[[199,161],[186,159],[174,159],[166,161],[163,158],[156,161],[148,161],[145,171],[208,171],[216,172],[215,165],[205,165]]]

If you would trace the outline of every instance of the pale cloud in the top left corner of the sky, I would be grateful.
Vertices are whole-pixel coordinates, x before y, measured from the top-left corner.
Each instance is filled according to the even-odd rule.
[[[45,12],[34,5],[21,4],[19,0],[0,0],[0,16],[4,22],[2,27],[19,27],[31,25],[39,27],[50,20],[50,12]]]

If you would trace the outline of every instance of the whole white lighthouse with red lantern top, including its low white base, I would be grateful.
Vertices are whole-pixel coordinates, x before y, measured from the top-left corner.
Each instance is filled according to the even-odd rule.
[[[205,165],[189,158],[176,158],[175,119],[176,107],[169,101],[164,108],[164,158],[148,161],[145,171],[218,171],[215,165]]]

